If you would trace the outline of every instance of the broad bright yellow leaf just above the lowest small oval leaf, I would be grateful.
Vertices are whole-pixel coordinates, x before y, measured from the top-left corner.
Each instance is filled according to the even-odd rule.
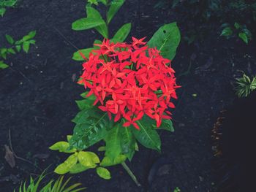
[[[99,164],[99,157],[92,152],[80,151],[78,153],[78,161],[81,165],[94,168]]]

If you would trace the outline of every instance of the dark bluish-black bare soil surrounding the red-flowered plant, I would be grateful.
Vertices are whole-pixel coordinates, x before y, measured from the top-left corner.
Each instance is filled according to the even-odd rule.
[[[113,32],[131,22],[132,36],[149,39],[163,23],[175,20],[183,36],[189,28],[200,31],[197,20],[189,20],[186,10],[154,9],[155,3],[140,1],[138,6],[138,1],[127,1],[111,23]],[[78,112],[75,99],[80,99],[83,88],[73,81],[81,70],[71,59],[75,48],[57,31],[76,47],[90,47],[98,34],[71,29],[74,20],[85,17],[84,6],[83,0],[23,0],[0,18],[1,45],[4,34],[18,39],[37,30],[36,47],[31,47],[29,54],[11,56],[11,67],[0,71],[0,191],[13,191],[29,174],[40,174],[35,166],[45,169],[52,164],[49,169],[53,170],[64,161],[65,155],[48,147],[72,134],[71,120]],[[219,111],[236,97],[231,82],[238,71],[255,74],[256,47],[254,42],[247,46],[240,40],[219,37],[217,22],[200,25],[208,29],[208,34],[192,45],[181,42],[173,60],[182,85],[173,117],[175,133],[161,133],[161,154],[140,147],[129,165],[143,188],[137,188],[121,166],[115,166],[110,168],[112,179],[108,181],[100,179],[94,170],[76,175],[73,180],[83,183],[87,191],[169,192],[176,186],[183,192],[215,191],[211,128]],[[10,145],[9,131],[16,155],[33,164],[16,159],[12,169],[4,160],[4,145]],[[38,155],[44,157],[35,158]],[[148,183],[153,164],[152,183]]]

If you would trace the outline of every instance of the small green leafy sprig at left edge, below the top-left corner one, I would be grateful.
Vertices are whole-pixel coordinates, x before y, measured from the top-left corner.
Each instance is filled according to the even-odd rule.
[[[20,53],[20,50],[22,49],[25,53],[28,53],[30,45],[34,45],[36,43],[36,41],[33,39],[36,34],[36,31],[30,31],[29,34],[17,41],[15,41],[10,35],[5,35],[5,38],[10,46],[0,47],[0,69],[5,69],[8,67],[8,65],[4,62],[4,60],[7,59],[7,55]]]

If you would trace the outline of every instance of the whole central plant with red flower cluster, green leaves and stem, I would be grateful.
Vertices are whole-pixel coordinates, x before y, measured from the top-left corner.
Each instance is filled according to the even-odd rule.
[[[169,109],[174,107],[178,85],[170,61],[181,37],[176,23],[169,23],[159,28],[148,42],[132,37],[132,42],[126,43],[131,26],[127,23],[109,39],[108,24],[124,0],[99,2],[109,7],[106,21],[91,7],[98,1],[90,1],[87,18],[72,23],[74,30],[95,28],[105,39],[95,40],[94,47],[73,55],[75,61],[83,61],[78,83],[86,92],[81,94],[82,100],[76,101],[80,112],[72,120],[72,136],[67,137],[67,142],[50,147],[72,153],[55,172],[75,174],[95,168],[100,177],[108,180],[110,172],[106,167],[121,164],[140,185],[125,161],[132,161],[138,142],[159,151],[157,129],[173,131]],[[96,153],[85,151],[102,140],[105,145],[98,149],[104,152],[102,160]]]

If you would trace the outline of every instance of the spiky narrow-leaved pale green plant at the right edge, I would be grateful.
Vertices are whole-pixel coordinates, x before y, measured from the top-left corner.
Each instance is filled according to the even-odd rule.
[[[246,74],[243,74],[243,77],[236,79],[236,95],[238,97],[246,97],[256,89],[256,77],[248,77]]]

